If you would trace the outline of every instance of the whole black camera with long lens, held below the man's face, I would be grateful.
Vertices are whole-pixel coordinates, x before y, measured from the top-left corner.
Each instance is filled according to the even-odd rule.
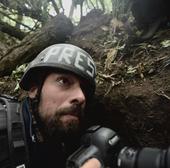
[[[80,148],[67,159],[66,167],[79,168],[90,158],[97,158],[102,168],[170,168],[170,148],[124,146],[112,129],[101,126],[87,130]]]

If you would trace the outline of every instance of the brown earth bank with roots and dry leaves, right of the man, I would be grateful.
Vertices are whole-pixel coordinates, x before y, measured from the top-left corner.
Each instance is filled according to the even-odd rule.
[[[103,16],[98,15],[100,18]],[[97,64],[96,103],[89,118],[93,118],[93,124],[116,130],[132,146],[167,147],[170,144],[170,28],[160,29],[148,41],[129,44],[125,27],[118,25],[114,34],[113,20],[107,22],[106,18],[109,20],[105,16],[105,23],[95,31],[79,33],[71,40],[89,51]],[[83,25],[80,23],[79,27]]]

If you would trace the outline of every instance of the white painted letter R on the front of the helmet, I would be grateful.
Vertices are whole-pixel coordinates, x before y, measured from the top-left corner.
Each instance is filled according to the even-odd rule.
[[[65,61],[67,64],[71,64],[73,61],[71,58],[73,57],[74,50],[71,48],[64,48],[60,54],[60,57],[58,59],[59,62]]]

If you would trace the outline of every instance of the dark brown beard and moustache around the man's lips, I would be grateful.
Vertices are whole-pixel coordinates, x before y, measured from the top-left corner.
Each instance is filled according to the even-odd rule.
[[[64,123],[61,120],[61,117],[65,115],[73,115],[77,117],[77,120],[71,120],[67,123]],[[45,133],[45,138],[60,139],[64,140],[66,138],[74,138],[80,132],[83,125],[83,108],[81,105],[75,104],[71,107],[62,108],[55,111],[53,116],[42,116],[41,112],[39,113],[39,118],[43,124],[43,132]]]

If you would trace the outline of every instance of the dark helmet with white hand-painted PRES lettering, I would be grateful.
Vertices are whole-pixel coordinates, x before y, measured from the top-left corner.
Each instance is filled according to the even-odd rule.
[[[95,90],[96,67],[93,59],[86,51],[77,46],[54,44],[40,52],[28,65],[21,78],[21,89],[28,91],[36,80],[37,74],[42,74],[47,69],[72,72],[85,79],[93,92]],[[89,88],[89,86],[87,87]]]

